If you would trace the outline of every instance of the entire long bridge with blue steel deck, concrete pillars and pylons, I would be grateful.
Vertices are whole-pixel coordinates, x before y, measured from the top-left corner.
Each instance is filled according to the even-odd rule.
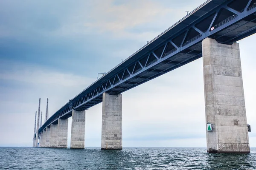
[[[122,149],[122,92],[203,57],[207,151],[250,153],[236,41],[255,32],[256,0],[207,0],[37,126],[33,146],[67,147],[72,116],[71,148],[84,148],[85,110],[103,102],[102,149]]]

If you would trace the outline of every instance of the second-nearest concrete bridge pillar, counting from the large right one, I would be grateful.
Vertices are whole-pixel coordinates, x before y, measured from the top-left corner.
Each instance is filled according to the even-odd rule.
[[[102,149],[122,149],[122,94],[103,94]]]

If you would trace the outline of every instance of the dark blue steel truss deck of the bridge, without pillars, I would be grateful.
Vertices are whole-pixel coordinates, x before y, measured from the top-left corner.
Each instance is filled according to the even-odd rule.
[[[201,42],[232,44],[256,32],[256,0],[208,0],[99,78],[39,129],[202,57]]]

